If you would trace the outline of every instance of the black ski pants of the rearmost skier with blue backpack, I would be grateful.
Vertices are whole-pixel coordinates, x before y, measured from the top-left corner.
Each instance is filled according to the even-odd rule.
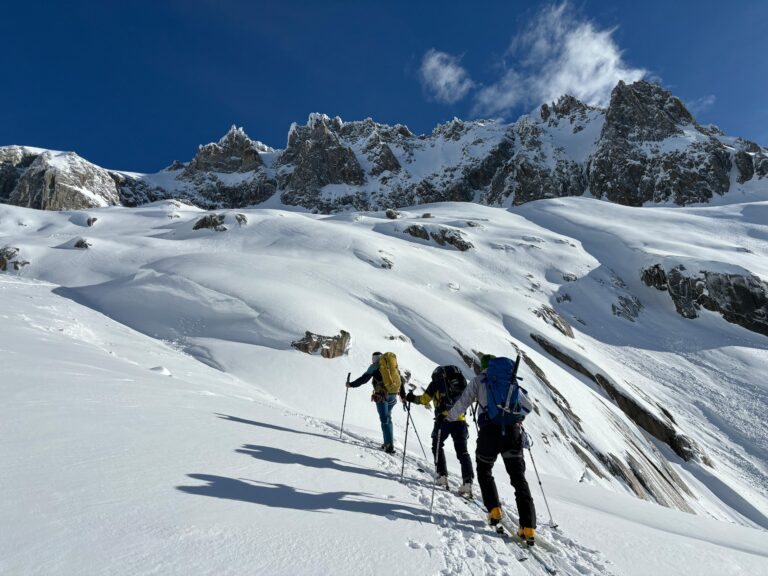
[[[493,479],[493,464],[501,454],[512,487],[515,489],[517,512],[520,526],[536,528],[536,508],[533,505],[531,489],[525,479],[525,459],[523,458],[523,429],[520,424],[502,428],[494,424],[485,424],[477,437],[477,483],[483,495],[483,504],[490,511],[499,506],[499,493]]]

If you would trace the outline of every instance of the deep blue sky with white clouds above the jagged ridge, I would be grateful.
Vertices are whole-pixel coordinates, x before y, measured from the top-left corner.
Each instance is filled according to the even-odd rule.
[[[766,22],[768,2],[739,0],[14,2],[0,145],[146,172],[232,124],[277,148],[310,112],[423,133],[640,77],[768,145]]]

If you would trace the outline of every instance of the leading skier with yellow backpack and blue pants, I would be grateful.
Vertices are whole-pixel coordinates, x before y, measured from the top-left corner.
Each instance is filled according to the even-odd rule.
[[[379,420],[381,421],[381,432],[384,435],[381,449],[387,454],[394,454],[392,409],[397,404],[398,395],[403,403],[403,408],[405,408],[404,380],[397,368],[397,359],[394,353],[374,352],[371,355],[371,365],[360,378],[347,383],[347,388],[357,388],[371,379],[373,379],[371,402],[376,403],[376,411],[379,413]]]

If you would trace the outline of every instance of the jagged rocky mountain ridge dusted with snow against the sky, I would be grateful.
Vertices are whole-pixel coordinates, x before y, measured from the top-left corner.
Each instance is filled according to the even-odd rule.
[[[205,209],[271,200],[333,213],[585,195],[630,206],[766,199],[768,150],[700,125],[678,98],[644,81],[620,82],[606,109],[563,96],[512,124],[454,119],[429,135],[312,114],[274,150],[233,126],[157,174],[105,171],[71,152],[0,148],[0,202],[53,210],[175,198]]]

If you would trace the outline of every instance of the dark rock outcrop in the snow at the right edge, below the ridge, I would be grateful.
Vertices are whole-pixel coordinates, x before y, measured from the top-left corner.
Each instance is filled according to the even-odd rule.
[[[706,270],[691,273],[682,265],[665,270],[656,264],[643,270],[641,279],[648,286],[668,291],[684,318],[698,318],[705,308],[719,312],[728,322],[768,336],[768,284],[754,275]]]

